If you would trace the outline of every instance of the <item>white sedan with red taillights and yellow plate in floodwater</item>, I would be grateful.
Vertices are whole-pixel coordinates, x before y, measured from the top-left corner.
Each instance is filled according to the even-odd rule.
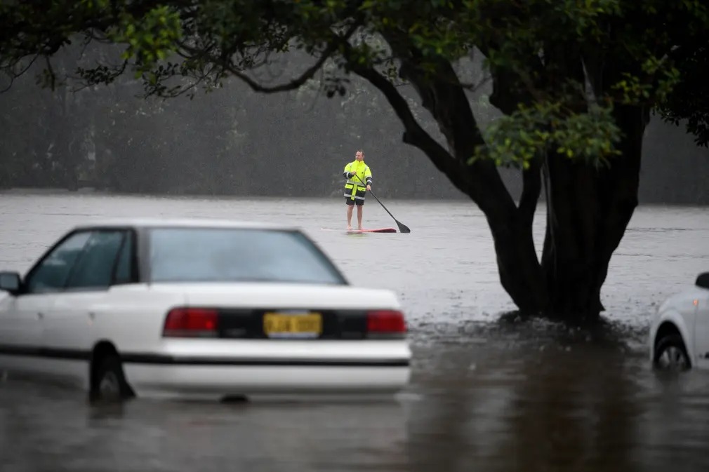
[[[410,376],[396,295],[351,286],[298,228],[79,226],[0,290],[0,373],[94,399],[388,397]]]

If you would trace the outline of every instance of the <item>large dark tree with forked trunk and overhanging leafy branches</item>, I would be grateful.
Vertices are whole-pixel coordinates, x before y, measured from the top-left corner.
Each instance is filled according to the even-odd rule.
[[[692,83],[687,58],[704,54],[709,19],[698,0],[2,0],[0,24],[4,69],[48,60],[50,85],[49,58],[77,38],[125,45],[113,63],[77,70],[86,82],[130,71],[146,94],[238,77],[264,93],[318,79],[333,96],[351,74],[366,79],[403,123],[403,141],[485,213],[518,308],[593,321],[637,206],[649,113],[691,109],[671,92]],[[311,57],[295,77],[264,72],[289,57],[292,72],[294,50]],[[486,128],[470,105],[474,54],[503,113]],[[440,133],[420,123],[420,108]],[[523,174],[518,201],[501,165]],[[542,190],[540,260],[532,219]]]

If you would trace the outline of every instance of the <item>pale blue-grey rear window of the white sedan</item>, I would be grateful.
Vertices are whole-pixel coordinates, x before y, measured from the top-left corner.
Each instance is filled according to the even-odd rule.
[[[149,231],[152,282],[347,282],[298,231],[160,227]]]

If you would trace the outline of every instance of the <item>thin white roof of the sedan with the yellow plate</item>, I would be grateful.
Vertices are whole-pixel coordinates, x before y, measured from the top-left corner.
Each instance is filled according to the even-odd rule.
[[[203,228],[245,228],[264,230],[297,230],[300,228],[275,223],[224,220],[218,218],[106,218],[87,221],[76,225],[74,229],[87,229],[92,227],[203,227]]]

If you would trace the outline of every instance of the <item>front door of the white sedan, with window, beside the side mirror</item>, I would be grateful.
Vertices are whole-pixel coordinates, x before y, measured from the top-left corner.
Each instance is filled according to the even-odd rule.
[[[20,373],[45,371],[43,320],[64,290],[89,235],[79,231],[62,238],[28,271],[21,293],[8,294],[0,302],[0,368]]]

